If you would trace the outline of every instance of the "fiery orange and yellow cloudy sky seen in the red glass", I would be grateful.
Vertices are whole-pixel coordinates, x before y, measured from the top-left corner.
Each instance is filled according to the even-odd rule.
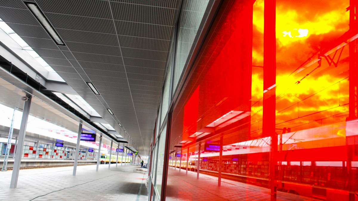
[[[316,70],[314,69],[318,63],[298,73],[294,70],[321,47],[333,48],[338,45],[334,42],[349,29],[349,12],[345,11],[348,6],[348,0],[276,1],[276,124],[291,120],[276,127],[301,125],[295,130],[302,130],[345,120],[345,117],[323,118],[340,113],[347,115],[344,112],[348,111],[348,105],[342,105],[348,103],[348,79],[345,79],[348,76],[348,46],[342,52],[338,67],[329,66],[323,59],[321,67]],[[300,35],[299,31],[307,35],[297,37]],[[263,0],[257,0],[254,4],[252,53],[253,65],[262,66]],[[337,61],[337,58],[338,55],[334,60]],[[312,57],[314,59],[318,59],[318,55]],[[262,72],[261,67],[253,67],[252,104],[262,98]],[[294,73],[290,75],[292,72]],[[301,80],[303,77],[305,78]],[[301,81],[297,84],[299,80]],[[287,107],[289,108],[286,109]],[[333,107],[335,108],[332,109]],[[261,122],[257,122],[262,119],[261,109],[262,99],[252,106],[252,132],[261,129]],[[319,113],[310,115],[315,112]],[[305,115],[308,116],[303,117]],[[319,121],[306,124],[311,120]]]

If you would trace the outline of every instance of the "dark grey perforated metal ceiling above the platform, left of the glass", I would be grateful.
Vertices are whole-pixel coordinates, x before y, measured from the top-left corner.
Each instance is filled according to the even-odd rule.
[[[2,0],[0,17],[118,132],[120,122],[141,155],[149,154],[178,0],[34,2],[66,46],[55,44],[23,1]]]

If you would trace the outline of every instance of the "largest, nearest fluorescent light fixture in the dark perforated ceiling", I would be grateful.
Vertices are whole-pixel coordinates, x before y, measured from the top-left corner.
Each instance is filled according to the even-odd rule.
[[[49,21],[45,18],[45,16],[42,14],[42,12],[37,7],[37,5],[34,3],[30,3],[30,2],[26,2],[26,5],[30,8],[30,10],[33,12],[33,14],[37,17],[37,19],[40,21],[40,23],[46,29],[46,31],[50,34],[50,36],[53,38],[53,40],[57,43],[57,45],[64,45],[63,41],[57,35],[54,28],[50,25]]]

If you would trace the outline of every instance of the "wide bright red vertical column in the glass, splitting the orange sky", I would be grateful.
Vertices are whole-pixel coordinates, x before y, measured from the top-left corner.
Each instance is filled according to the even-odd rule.
[[[276,1],[265,1],[263,32],[263,136],[271,136],[270,150],[270,189],[271,200],[276,200],[275,152],[277,135],[275,132],[276,109]]]

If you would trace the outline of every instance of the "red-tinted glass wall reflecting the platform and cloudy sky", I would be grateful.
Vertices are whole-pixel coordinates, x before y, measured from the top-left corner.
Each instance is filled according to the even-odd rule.
[[[357,200],[349,4],[223,1],[170,109],[168,165],[180,168],[168,168],[166,199]],[[173,89],[188,57],[178,59],[181,48]]]

